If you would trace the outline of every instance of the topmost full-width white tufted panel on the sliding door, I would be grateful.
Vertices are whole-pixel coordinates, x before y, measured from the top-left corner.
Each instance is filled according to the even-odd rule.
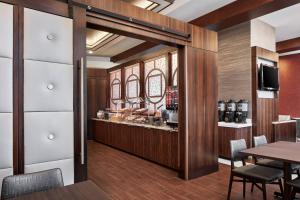
[[[73,64],[72,19],[25,8],[24,59]]]

